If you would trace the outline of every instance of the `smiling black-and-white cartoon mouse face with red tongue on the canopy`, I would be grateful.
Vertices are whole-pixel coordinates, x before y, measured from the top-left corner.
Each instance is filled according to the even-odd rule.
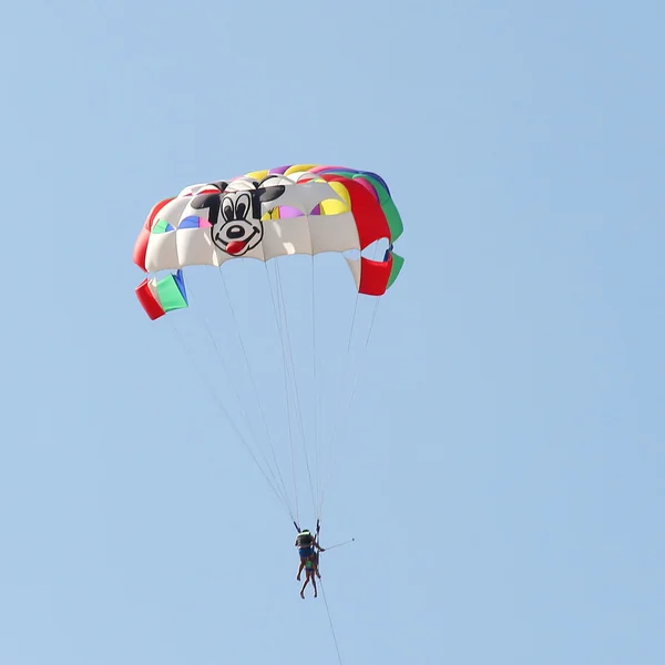
[[[255,185],[255,190],[224,193],[226,183],[215,184],[215,186],[221,190],[219,194],[204,194],[196,197],[192,202],[192,207],[209,209],[211,237],[216,247],[232,256],[243,256],[263,241],[262,203],[275,201],[284,194],[285,187]]]

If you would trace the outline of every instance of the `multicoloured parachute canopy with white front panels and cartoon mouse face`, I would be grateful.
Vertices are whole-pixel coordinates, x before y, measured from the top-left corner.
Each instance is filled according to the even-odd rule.
[[[331,252],[346,259],[359,294],[381,296],[403,265],[392,250],[401,233],[388,185],[367,171],[297,164],[191,185],[147,215],[134,263],[146,273],[175,273],[146,278],[136,295],[156,319],[187,307],[186,266]],[[383,239],[381,260],[362,255]]]

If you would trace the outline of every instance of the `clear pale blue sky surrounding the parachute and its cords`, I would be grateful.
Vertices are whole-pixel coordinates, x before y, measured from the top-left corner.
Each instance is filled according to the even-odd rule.
[[[4,9],[2,663],[338,662],[133,294],[153,203],[297,162],[380,173],[406,227],[326,499],[342,662],[663,662],[665,10],[580,4]]]

